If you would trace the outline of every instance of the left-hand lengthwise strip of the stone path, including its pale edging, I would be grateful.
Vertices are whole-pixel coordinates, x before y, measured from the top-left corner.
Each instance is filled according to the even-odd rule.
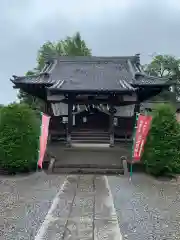
[[[72,209],[78,180],[79,177],[76,175],[67,176],[63,186],[54,198],[35,240],[64,239],[64,232]]]

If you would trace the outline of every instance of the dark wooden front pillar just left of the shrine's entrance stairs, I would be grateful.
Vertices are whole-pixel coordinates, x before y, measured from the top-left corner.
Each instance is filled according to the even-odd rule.
[[[73,98],[69,94],[68,96],[68,124],[67,124],[67,145],[71,146],[71,132],[73,124]]]

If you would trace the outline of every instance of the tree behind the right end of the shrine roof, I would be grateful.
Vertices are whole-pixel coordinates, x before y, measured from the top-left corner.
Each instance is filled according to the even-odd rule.
[[[156,55],[150,64],[144,66],[147,74],[156,77],[171,78],[172,85],[180,83],[180,59],[171,55]],[[178,85],[173,89],[176,96],[180,96],[180,88]]]

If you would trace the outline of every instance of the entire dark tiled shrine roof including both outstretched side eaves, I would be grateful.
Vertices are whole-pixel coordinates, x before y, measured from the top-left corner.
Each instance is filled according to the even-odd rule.
[[[127,57],[68,57],[49,62],[36,76],[15,77],[12,82],[43,84],[62,91],[134,91],[140,85],[163,85],[167,79],[144,75],[139,55]]]

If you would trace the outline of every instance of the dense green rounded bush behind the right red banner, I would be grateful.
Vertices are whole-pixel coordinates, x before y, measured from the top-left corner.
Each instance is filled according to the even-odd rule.
[[[153,112],[142,161],[156,176],[180,172],[180,125],[169,104],[158,104]]]

